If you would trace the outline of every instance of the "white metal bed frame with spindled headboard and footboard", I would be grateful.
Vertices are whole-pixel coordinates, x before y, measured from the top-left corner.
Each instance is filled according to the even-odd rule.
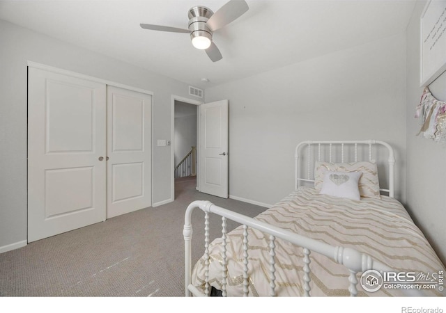
[[[314,182],[314,175],[312,176],[311,166],[312,166],[312,154],[311,154],[311,148],[313,145],[316,145],[318,156],[318,161],[323,161],[323,146],[328,146],[328,153],[329,153],[329,160],[330,162],[334,162],[334,146],[339,146],[341,149],[341,159],[339,160],[341,163],[344,163],[344,161],[347,159],[348,156],[346,154],[346,147],[347,146],[353,146],[354,147],[354,159],[351,161],[358,161],[358,147],[364,147],[368,146],[368,156],[369,160],[372,159],[372,148],[375,145],[381,145],[387,149],[388,152],[388,166],[389,166],[389,172],[388,172],[388,189],[381,189],[381,191],[387,192],[390,197],[394,197],[394,151],[392,147],[383,141],[305,141],[302,143],[299,143],[297,147],[295,148],[295,188],[299,188],[300,184],[302,182]],[[301,168],[300,166],[300,150],[302,150],[303,147],[308,148],[307,156],[307,177],[304,178],[301,176]],[[352,154],[352,153],[350,153]],[[338,161],[338,162],[339,162]],[[205,213],[205,291],[204,293],[201,292],[197,287],[194,287],[191,284],[192,281],[192,261],[191,261],[191,255],[192,255],[192,248],[191,248],[191,240],[192,240],[192,224],[191,224],[191,216],[192,211],[194,209],[201,209]],[[350,275],[348,277],[348,281],[350,282],[350,287],[348,288],[348,291],[350,291],[351,296],[357,295],[357,273],[362,273],[367,270],[376,270],[380,271],[381,273],[383,271],[392,271],[392,268],[389,268],[385,264],[382,264],[380,262],[377,262],[374,260],[371,256],[366,255],[362,252],[358,252],[357,250],[354,250],[352,248],[344,248],[341,246],[330,246],[327,243],[323,243],[321,241],[316,241],[314,239],[301,236],[299,234],[295,234],[294,232],[290,232],[289,230],[284,230],[280,227],[276,227],[274,225],[269,225],[267,223],[263,223],[259,220],[255,220],[254,218],[250,218],[248,216],[244,216],[243,214],[238,214],[236,212],[230,211],[229,209],[224,209],[222,207],[218,207],[212,202],[209,201],[194,201],[192,202],[186,209],[185,212],[185,225],[183,229],[183,236],[185,240],[185,296],[209,296],[210,295],[210,284],[209,284],[209,277],[208,277],[208,265],[209,265],[209,214],[217,214],[219,216],[222,216],[222,239],[223,240],[223,253],[222,253],[222,275],[223,275],[223,284],[222,284],[222,296],[226,296],[226,219],[236,221],[237,223],[240,223],[243,225],[244,233],[243,233],[243,250],[244,250],[244,282],[243,282],[243,290],[244,290],[244,296],[248,295],[248,275],[247,275],[247,264],[248,264],[248,239],[247,239],[247,228],[252,227],[256,230],[260,230],[261,232],[264,232],[266,234],[270,235],[270,296],[275,296],[275,239],[280,238],[285,241],[289,241],[297,246],[300,246],[303,248],[304,252],[304,290],[305,290],[305,296],[310,296],[310,273],[311,268],[309,266],[310,259],[309,255],[311,252],[316,252],[321,255],[325,255],[326,257],[329,257],[334,260],[334,262],[337,262],[339,264],[344,265],[346,268],[348,268],[348,271],[350,271]],[[409,296],[422,296],[423,294],[420,293],[420,291],[411,291],[408,290]]]

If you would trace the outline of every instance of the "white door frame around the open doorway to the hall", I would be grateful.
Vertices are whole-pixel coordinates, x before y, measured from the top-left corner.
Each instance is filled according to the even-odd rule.
[[[204,102],[180,97],[178,95],[172,95],[171,100],[171,201],[175,201],[175,102],[180,101],[187,104],[194,104],[197,106],[197,143],[199,143],[199,131],[200,131],[200,119],[199,119],[199,107]],[[197,154],[200,155],[200,147],[197,144]],[[199,190],[199,160],[197,158],[197,189]]]

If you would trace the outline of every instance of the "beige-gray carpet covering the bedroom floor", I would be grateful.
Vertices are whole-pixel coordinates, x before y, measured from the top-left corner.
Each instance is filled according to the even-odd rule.
[[[210,200],[248,216],[265,208],[195,190],[194,177],[178,179],[176,200],[110,218],[0,254],[0,296],[184,296],[184,212]],[[201,214],[200,214],[201,213]],[[203,214],[193,215],[192,261],[203,253]],[[211,216],[220,236],[221,219]],[[236,224],[229,224],[229,228]]]

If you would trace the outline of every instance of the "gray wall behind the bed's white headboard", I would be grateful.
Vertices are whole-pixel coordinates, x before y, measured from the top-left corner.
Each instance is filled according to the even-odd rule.
[[[206,89],[206,102],[229,99],[229,193],[274,204],[294,188],[300,141],[376,139],[395,149],[404,201],[405,56],[401,33]]]

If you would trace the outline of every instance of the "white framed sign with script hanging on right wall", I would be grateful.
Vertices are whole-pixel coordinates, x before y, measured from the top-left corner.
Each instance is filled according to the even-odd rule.
[[[420,20],[420,86],[446,71],[446,0],[428,1]]]

